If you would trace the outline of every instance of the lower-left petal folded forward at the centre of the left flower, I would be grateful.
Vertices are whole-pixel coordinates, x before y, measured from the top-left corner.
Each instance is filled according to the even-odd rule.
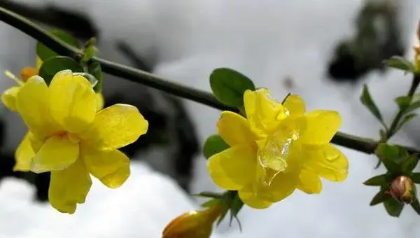
[[[50,137],[31,162],[31,172],[43,173],[62,170],[73,164],[79,155],[79,146],[67,137]]]

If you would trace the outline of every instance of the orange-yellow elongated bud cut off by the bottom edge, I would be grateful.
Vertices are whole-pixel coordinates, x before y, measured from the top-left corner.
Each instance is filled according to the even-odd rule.
[[[220,203],[202,211],[188,211],[172,220],[162,238],[209,238],[213,223],[222,214]]]

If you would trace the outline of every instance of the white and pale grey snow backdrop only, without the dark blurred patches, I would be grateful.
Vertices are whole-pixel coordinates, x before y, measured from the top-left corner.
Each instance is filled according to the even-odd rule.
[[[339,111],[343,132],[377,138],[379,123],[358,101],[360,85],[334,85],[325,78],[335,43],[353,34],[353,18],[362,0],[20,1],[56,2],[89,13],[102,38],[107,39],[99,45],[106,58],[120,59],[112,43],[123,38],[145,56],[157,50],[155,73],[204,90],[210,90],[211,70],[228,66],[253,78],[256,85],[269,87],[280,99],[291,91],[302,95],[309,110]],[[399,1],[405,43],[413,45],[420,2]],[[0,37],[1,71],[18,72],[34,64],[35,42],[31,38],[3,23]],[[409,52],[407,57],[412,55]],[[286,77],[293,78],[292,90],[284,86]],[[396,111],[393,98],[406,92],[409,76],[391,70],[386,75],[370,73],[364,81],[385,118],[391,120]],[[1,90],[12,84],[1,76]],[[202,141],[216,132],[218,111],[194,102],[187,106]],[[1,113],[10,121],[17,120],[8,128],[8,146],[15,148],[25,127],[15,114],[4,108]],[[419,132],[420,119],[416,119],[393,142],[420,147]],[[243,232],[235,223],[231,228],[223,223],[212,237],[419,237],[420,216],[412,209],[406,208],[400,218],[391,218],[381,205],[369,207],[377,188],[362,183],[383,172],[373,169],[374,157],[342,150],[349,158],[349,178],[344,183],[325,182],[321,195],[297,192],[262,211],[245,207],[239,216]],[[194,192],[217,189],[207,175],[204,158],[197,159],[194,181]],[[1,181],[1,238],[160,237],[172,218],[197,208],[197,202],[174,181],[141,162],[132,163],[132,176],[117,190],[94,181],[86,203],[78,206],[73,216],[59,214],[47,204],[34,204],[33,193],[25,182]]]

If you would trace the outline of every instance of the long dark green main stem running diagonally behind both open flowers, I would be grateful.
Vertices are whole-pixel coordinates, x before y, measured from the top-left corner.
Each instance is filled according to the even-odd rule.
[[[74,48],[71,45],[64,43],[63,41],[60,41],[55,36],[51,36],[47,31],[41,27],[38,27],[38,25],[35,25],[33,22],[23,18],[16,13],[11,12],[10,10],[0,7],[0,20],[35,38],[37,41],[48,46],[48,48],[51,48],[59,55],[69,56],[78,61],[83,59],[83,52],[81,50]],[[155,76],[152,73],[134,69],[122,64],[117,64],[115,62],[111,62],[99,57],[92,57],[92,60],[99,62],[99,64],[102,66],[102,71],[110,75],[125,78],[136,83],[141,83],[148,87],[153,87],[178,97],[190,99],[194,102],[211,106],[214,109],[219,109],[222,111],[234,111],[239,113],[238,109],[225,106],[221,102],[218,102],[216,97],[214,97],[214,95],[209,92],[197,90],[187,85],[174,83],[170,80]],[[375,148],[377,148],[377,145],[379,144],[379,141],[373,141],[363,137],[356,137],[349,134],[344,134],[342,132],[338,132],[335,137],[332,138],[331,142],[333,144],[351,148],[353,150],[367,154],[374,153]],[[419,152],[414,148],[407,148],[407,150],[412,152]]]

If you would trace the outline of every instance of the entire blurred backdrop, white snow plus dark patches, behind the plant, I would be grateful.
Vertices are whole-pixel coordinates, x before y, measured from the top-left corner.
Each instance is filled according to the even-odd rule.
[[[98,40],[100,56],[151,71],[202,90],[209,74],[230,67],[268,87],[279,99],[300,94],[307,109],[342,115],[342,132],[378,139],[379,123],[360,104],[370,87],[384,118],[397,111],[410,76],[385,69],[393,55],[412,59],[419,0],[0,0],[0,6],[61,28],[86,41]],[[34,66],[36,41],[0,22],[0,71],[19,74]],[[0,90],[13,85],[0,76]],[[216,133],[219,111],[120,78],[104,78],[106,106],[133,104],[150,123],[148,134],[123,149],[132,176],[110,190],[94,181],[76,214],[60,214],[45,202],[49,174],[13,173],[13,153],[26,128],[0,106],[0,238],[160,237],[175,216],[202,200],[190,193],[218,190],[202,155]],[[420,148],[420,120],[407,123],[391,141]],[[382,205],[369,207],[377,188],[363,181],[384,169],[376,158],[342,148],[349,158],[344,183],[323,183],[321,195],[296,192],[269,209],[241,210],[213,237],[419,237],[412,209],[391,218]]]

